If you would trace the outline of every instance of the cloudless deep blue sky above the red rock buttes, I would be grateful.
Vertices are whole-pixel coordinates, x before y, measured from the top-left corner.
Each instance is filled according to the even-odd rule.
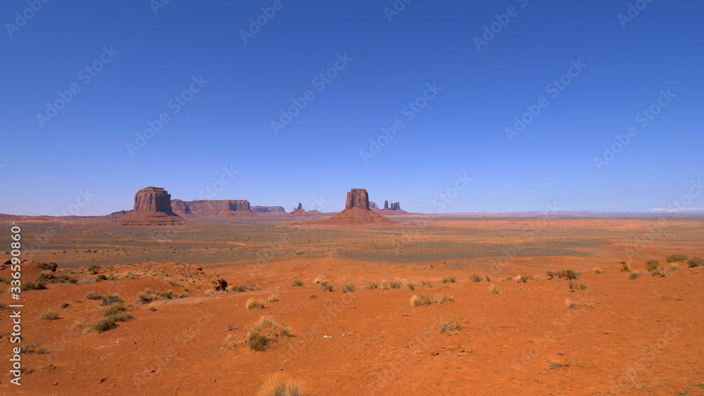
[[[326,211],[362,187],[438,212],[465,173],[472,181],[443,212],[648,210],[703,178],[701,1],[654,0],[625,22],[626,0],[415,0],[389,21],[393,4],[283,0],[245,44],[241,30],[271,0],[172,0],[156,15],[148,0],[54,0],[25,23],[15,13],[32,14],[26,0],[2,1],[0,212],[54,215],[85,189],[94,196],[80,215],[130,209],[144,186],[197,199],[223,167],[239,174],[214,198],[291,210],[322,197]],[[479,51],[474,37],[511,6]],[[118,53],[103,55],[110,46]],[[319,90],[314,78],[344,53]],[[579,60],[586,68],[553,98],[548,84]],[[442,90],[408,120],[404,107],[432,83]],[[80,91],[40,122],[72,84]],[[170,101],[191,87],[174,114]],[[667,107],[636,122],[667,89]],[[271,121],[307,90],[313,99],[275,134]],[[509,141],[505,128],[543,96]],[[169,122],[130,156],[127,143],[161,113]],[[365,164],[360,151],[395,120],[403,129]],[[637,136],[598,170],[594,158],[629,127]]]

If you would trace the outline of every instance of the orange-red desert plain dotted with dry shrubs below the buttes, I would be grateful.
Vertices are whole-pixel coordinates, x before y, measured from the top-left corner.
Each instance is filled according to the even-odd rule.
[[[704,395],[703,217],[393,219],[4,215],[43,286],[22,292],[23,385],[0,391]]]

